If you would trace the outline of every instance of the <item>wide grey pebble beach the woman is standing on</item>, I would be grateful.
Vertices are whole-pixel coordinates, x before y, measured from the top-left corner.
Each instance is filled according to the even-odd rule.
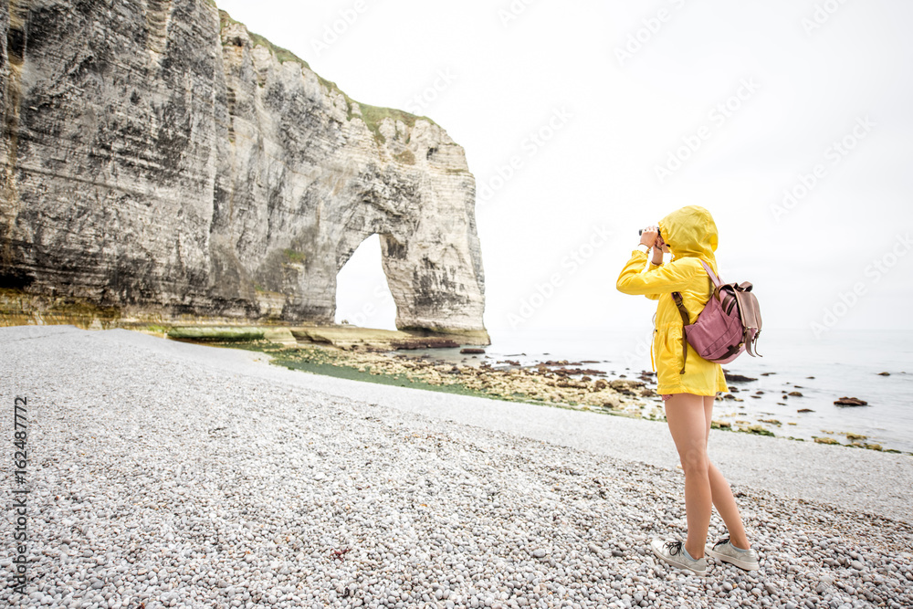
[[[0,344],[3,606],[913,606],[913,457],[712,431],[761,569],[699,577],[648,547],[686,529],[665,423],[124,330]]]

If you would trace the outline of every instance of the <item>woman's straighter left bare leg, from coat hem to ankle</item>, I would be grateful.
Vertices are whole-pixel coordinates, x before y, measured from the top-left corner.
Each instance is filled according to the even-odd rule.
[[[710,512],[713,509],[713,494],[708,476],[708,430],[703,397],[673,394],[666,401],[666,422],[676,443],[678,458],[685,470],[685,549],[691,558],[699,559],[704,555]]]

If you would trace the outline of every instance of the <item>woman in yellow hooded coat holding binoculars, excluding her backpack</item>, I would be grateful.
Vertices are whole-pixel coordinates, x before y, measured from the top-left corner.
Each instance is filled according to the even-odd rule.
[[[689,322],[698,319],[713,290],[700,261],[717,272],[713,255],[717,249],[717,226],[706,209],[690,205],[666,215],[658,227],[645,228],[638,247],[618,276],[616,287],[625,294],[658,300],[650,356],[655,361],[656,392],[662,395],[669,431],[685,470],[687,514],[684,544],[654,540],[651,547],[656,556],[680,569],[707,572],[704,544],[710,512],[716,506],[729,537],[706,549],[706,553],[746,571],[757,569],[758,554],[750,549],[729,482],[707,456],[713,400],[717,392],[728,391],[726,379],[719,363],[701,358],[690,345],[683,362],[682,317],[672,299],[672,292],[680,292]],[[651,247],[653,258],[644,270]],[[672,260],[663,264],[663,254],[670,251]]]

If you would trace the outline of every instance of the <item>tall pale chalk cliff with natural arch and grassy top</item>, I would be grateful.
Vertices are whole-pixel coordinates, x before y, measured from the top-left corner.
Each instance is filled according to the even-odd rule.
[[[0,287],[331,322],[380,235],[396,326],[484,336],[475,180],[207,0],[0,0]]]

